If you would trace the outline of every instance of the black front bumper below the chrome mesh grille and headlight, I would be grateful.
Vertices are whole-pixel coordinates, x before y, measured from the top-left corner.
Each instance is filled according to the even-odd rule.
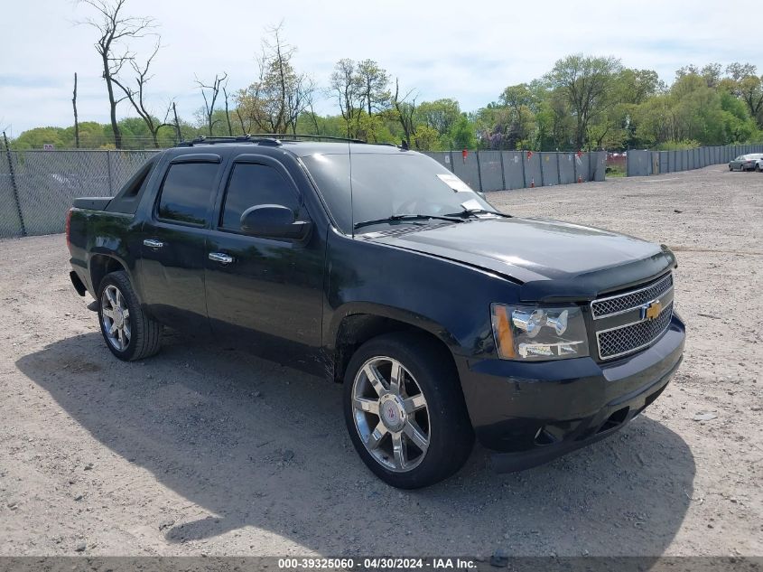
[[[665,389],[684,354],[685,328],[674,314],[657,342],[599,363],[461,361],[461,387],[475,433],[498,471],[521,470],[609,436]]]

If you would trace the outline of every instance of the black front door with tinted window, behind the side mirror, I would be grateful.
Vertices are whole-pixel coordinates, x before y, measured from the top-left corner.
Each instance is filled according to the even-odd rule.
[[[212,332],[269,359],[320,368],[324,239],[314,231],[302,241],[241,232],[241,214],[253,206],[283,205],[309,220],[293,179],[271,157],[241,155],[219,203],[204,260]]]

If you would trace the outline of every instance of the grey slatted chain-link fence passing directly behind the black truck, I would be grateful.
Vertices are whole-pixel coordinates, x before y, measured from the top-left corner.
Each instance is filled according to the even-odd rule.
[[[113,196],[158,151],[8,151],[0,146],[0,238],[62,232],[76,197]],[[603,181],[602,153],[428,152],[483,192]]]

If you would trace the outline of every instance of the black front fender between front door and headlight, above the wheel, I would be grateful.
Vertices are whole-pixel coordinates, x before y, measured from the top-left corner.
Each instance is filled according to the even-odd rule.
[[[454,355],[495,355],[490,304],[516,303],[518,286],[475,267],[329,233],[324,346],[333,349],[342,320],[380,315],[433,333]]]

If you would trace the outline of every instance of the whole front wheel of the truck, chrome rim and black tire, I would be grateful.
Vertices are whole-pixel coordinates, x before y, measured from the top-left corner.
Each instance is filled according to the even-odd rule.
[[[389,333],[360,346],[345,373],[344,413],[360,458],[401,489],[456,473],[474,444],[451,358],[425,335]]]

